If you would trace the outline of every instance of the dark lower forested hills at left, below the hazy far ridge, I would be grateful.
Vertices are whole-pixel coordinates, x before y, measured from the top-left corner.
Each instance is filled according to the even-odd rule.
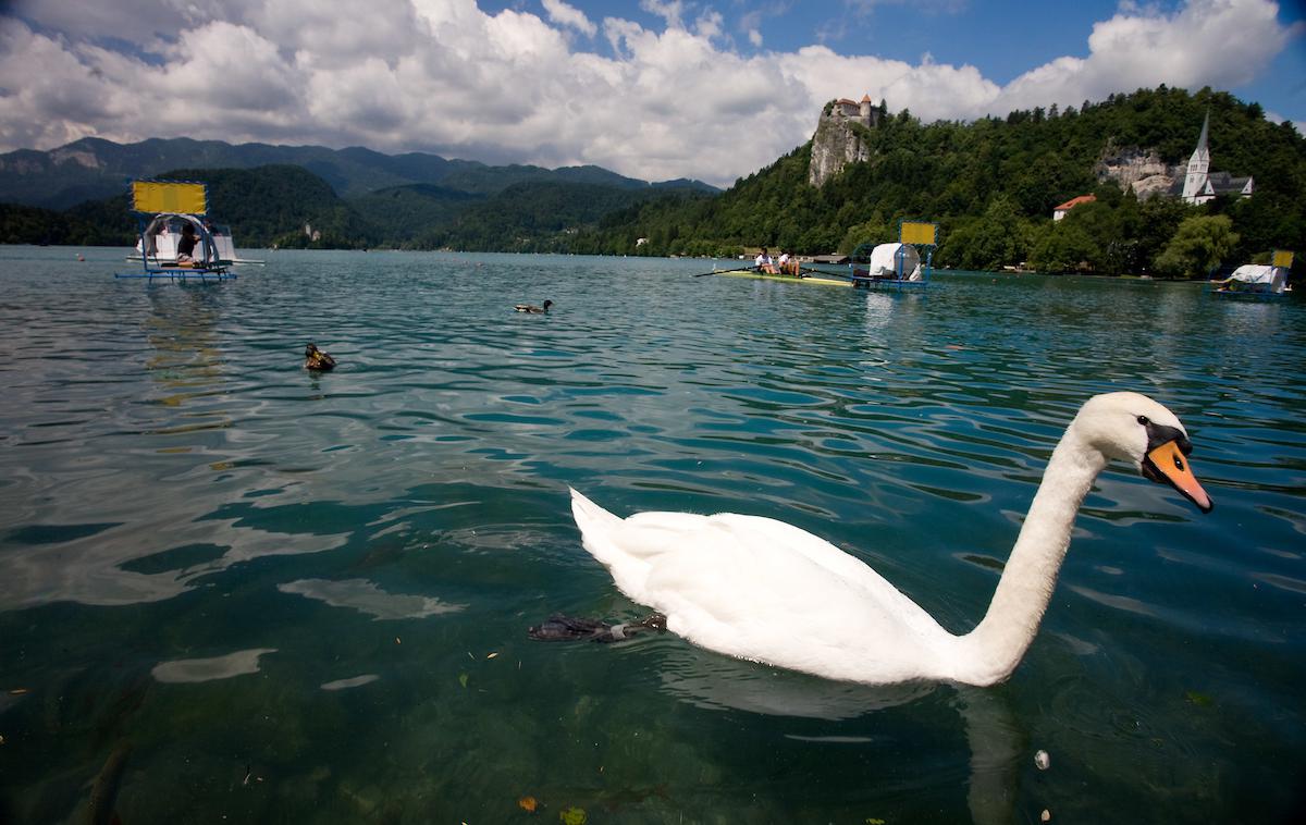
[[[512,167],[496,167],[512,168]],[[530,179],[492,195],[406,184],[341,198],[299,166],[178,168],[167,180],[208,187],[209,214],[231,226],[236,244],[257,247],[402,247],[465,251],[567,251],[603,215],[649,198],[707,197],[701,184],[628,185],[597,167]],[[0,204],[0,243],[131,245],[137,232],[127,195],[55,211]]]

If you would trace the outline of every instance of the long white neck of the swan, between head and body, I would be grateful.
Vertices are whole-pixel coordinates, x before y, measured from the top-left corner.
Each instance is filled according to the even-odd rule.
[[[959,672],[957,681],[994,684],[1016,670],[1047,610],[1075,513],[1105,466],[1101,452],[1083,444],[1074,426],[1067,429],[1047,462],[989,612],[960,640],[964,655],[957,664],[968,672]]]

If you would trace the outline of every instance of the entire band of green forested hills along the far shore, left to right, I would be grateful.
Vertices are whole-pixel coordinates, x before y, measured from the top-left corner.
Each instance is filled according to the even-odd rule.
[[[1131,148],[1185,163],[1208,112],[1212,171],[1251,175],[1252,197],[1140,200],[1096,174]],[[938,223],[934,262],[960,269],[1205,277],[1273,249],[1298,253],[1297,274],[1306,261],[1306,138],[1228,93],[1161,86],[970,123],[925,124],[902,110],[853,128],[871,159],[820,188],[807,183],[810,141],[724,193],[692,181],[632,187],[590,167],[539,180],[511,167],[516,183],[498,189],[451,176],[349,198],[291,164],[161,178],[205,181],[210,214],[242,248],[735,257],[765,245],[824,255],[895,240],[910,219]],[[1094,202],[1051,219],[1054,206],[1089,193]],[[125,195],[64,211],[0,205],[0,243],[129,245],[135,231]]]

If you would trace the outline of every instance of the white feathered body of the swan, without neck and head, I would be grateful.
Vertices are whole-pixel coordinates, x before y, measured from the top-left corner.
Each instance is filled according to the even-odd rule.
[[[572,513],[622,593],[697,645],[831,679],[949,676],[940,668],[953,637],[879,573],[804,530],[733,513],[622,520],[576,491]]]

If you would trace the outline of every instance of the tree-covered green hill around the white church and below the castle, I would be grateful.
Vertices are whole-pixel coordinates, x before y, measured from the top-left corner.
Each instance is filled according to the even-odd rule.
[[[1168,163],[1186,162],[1207,111],[1211,170],[1254,176],[1251,198],[1204,206],[1166,197],[1140,202],[1094,175],[1104,157],[1130,148],[1155,150]],[[575,251],[721,255],[768,245],[848,252],[862,241],[896,239],[897,223],[906,218],[940,225],[940,265],[1144,272],[1162,258],[1181,223],[1203,218],[1202,231],[1224,227],[1220,252],[1226,261],[1272,248],[1306,256],[1306,140],[1289,124],[1267,121],[1258,104],[1226,93],[1161,86],[1064,111],[1015,111],[974,123],[922,124],[902,111],[861,134],[871,159],[849,164],[820,189],[807,184],[808,142],[720,197],[653,202],[611,215],[577,238]],[[1087,193],[1098,201],[1051,221],[1055,205]],[[1161,264],[1165,269],[1175,261]]]

